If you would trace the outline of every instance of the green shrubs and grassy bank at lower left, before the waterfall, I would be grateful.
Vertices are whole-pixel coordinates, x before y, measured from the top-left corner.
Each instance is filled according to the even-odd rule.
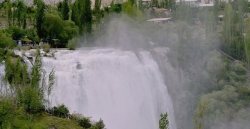
[[[69,114],[64,105],[48,108],[49,96],[54,84],[54,71],[49,74],[48,85],[42,69],[40,50],[37,49],[35,63],[29,73],[21,58],[7,50],[5,56],[5,87],[0,95],[0,128],[91,128],[103,129],[102,120],[93,122],[89,118]],[[44,95],[48,95],[48,100]],[[51,115],[57,116],[53,117]],[[61,118],[70,118],[61,119]],[[67,125],[65,125],[67,124]]]

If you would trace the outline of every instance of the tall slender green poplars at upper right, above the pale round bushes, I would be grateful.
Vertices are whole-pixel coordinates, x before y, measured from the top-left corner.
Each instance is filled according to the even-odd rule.
[[[236,8],[236,7],[235,7]],[[245,59],[244,49],[244,17],[242,5],[233,10],[231,4],[225,7],[223,24],[223,49],[235,59]]]

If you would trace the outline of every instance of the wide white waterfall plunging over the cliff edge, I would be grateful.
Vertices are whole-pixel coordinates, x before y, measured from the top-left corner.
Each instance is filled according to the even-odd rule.
[[[52,105],[101,118],[107,129],[158,129],[160,114],[168,112],[176,129],[167,87],[147,51],[61,50],[43,63],[55,70]]]

